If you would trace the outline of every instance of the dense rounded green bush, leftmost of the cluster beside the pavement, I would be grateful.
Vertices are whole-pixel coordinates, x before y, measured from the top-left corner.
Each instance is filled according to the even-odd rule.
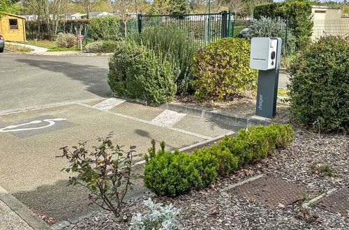
[[[172,63],[132,41],[115,49],[107,77],[115,95],[147,103],[170,102],[177,91]]]

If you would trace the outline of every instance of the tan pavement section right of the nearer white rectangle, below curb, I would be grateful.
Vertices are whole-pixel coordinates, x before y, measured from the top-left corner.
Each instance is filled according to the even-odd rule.
[[[191,114],[187,114],[173,127],[188,130],[191,132],[197,132],[201,135],[206,135],[209,137],[225,135],[228,132],[237,131],[242,128],[235,125],[228,125],[226,123],[214,121],[209,118],[193,116]]]

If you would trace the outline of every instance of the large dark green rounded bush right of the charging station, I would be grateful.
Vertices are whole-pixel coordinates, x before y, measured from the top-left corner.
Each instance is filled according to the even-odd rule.
[[[309,45],[290,64],[290,112],[314,130],[349,128],[349,41],[329,36]]]

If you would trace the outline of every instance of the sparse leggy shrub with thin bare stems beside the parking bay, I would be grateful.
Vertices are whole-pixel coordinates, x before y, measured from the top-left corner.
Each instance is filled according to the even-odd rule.
[[[87,141],[79,141],[71,152],[67,146],[60,148],[63,155],[58,158],[67,158],[70,166],[67,172],[72,171],[76,176],[70,176],[68,185],[82,185],[90,191],[89,200],[105,210],[119,215],[125,194],[132,185],[131,166],[135,146],[124,153],[122,146],[114,146],[111,141],[112,132],[105,138],[98,137],[100,146],[94,146],[93,151],[86,149]],[[122,187],[122,188],[121,188]]]

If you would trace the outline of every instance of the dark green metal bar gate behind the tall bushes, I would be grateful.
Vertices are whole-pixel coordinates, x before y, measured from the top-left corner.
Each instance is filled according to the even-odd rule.
[[[138,15],[138,32],[159,26],[178,26],[201,45],[230,36],[231,13],[190,15]]]

